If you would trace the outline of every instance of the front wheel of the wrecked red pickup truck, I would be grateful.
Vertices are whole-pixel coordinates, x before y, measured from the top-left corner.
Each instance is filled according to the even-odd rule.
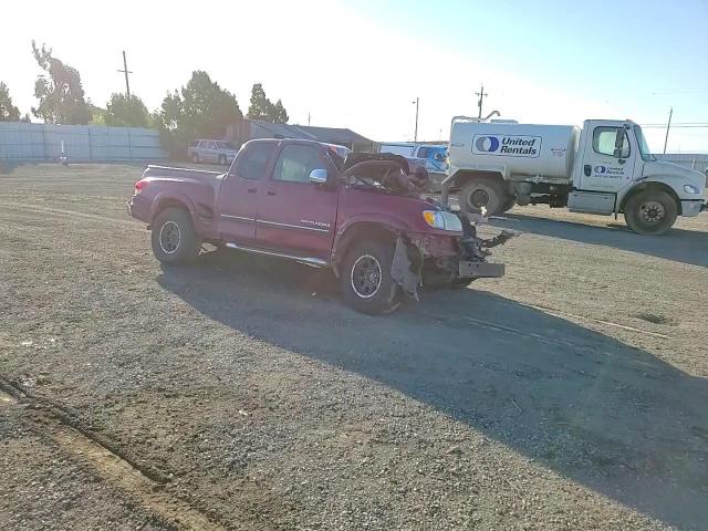
[[[392,242],[365,240],[354,243],[342,261],[340,274],[347,304],[369,315],[396,310],[400,305],[402,290],[391,275],[393,260]]]

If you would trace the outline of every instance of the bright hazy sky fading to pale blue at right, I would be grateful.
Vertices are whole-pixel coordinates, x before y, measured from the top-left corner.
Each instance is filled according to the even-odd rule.
[[[378,142],[413,139],[419,98],[418,139],[435,140],[452,116],[477,115],[483,84],[483,114],[631,118],[656,153],[673,107],[667,150],[708,153],[708,127],[683,125],[708,125],[708,0],[6,0],[2,14],[0,81],[22,114],[37,105],[34,39],[98,106],[125,91],[125,50],[149,110],[205,70],[243,113],[260,82],[291,123]]]

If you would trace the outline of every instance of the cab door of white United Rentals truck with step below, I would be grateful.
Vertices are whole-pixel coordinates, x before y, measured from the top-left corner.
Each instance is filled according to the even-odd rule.
[[[629,124],[587,121],[568,199],[571,211],[612,214],[617,196],[632,185],[638,148]]]

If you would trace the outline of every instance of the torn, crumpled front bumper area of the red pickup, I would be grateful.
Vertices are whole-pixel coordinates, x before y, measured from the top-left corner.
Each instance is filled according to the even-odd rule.
[[[503,263],[488,262],[490,249],[506,243],[514,232],[503,230],[491,239],[477,236],[477,227],[465,214],[462,237],[430,233],[398,233],[392,277],[403,291],[418,300],[418,288],[436,290],[467,285],[476,279],[500,278]]]

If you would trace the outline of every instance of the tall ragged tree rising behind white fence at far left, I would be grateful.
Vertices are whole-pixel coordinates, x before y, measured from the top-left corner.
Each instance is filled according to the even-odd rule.
[[[46,124],[87,124],[92,115],[79,71],[54,58],[45,44],[39,49],[32,41],[32,53],[45,72],[34,83],[34,96],[40,104],[32,107],[32,114]]]

